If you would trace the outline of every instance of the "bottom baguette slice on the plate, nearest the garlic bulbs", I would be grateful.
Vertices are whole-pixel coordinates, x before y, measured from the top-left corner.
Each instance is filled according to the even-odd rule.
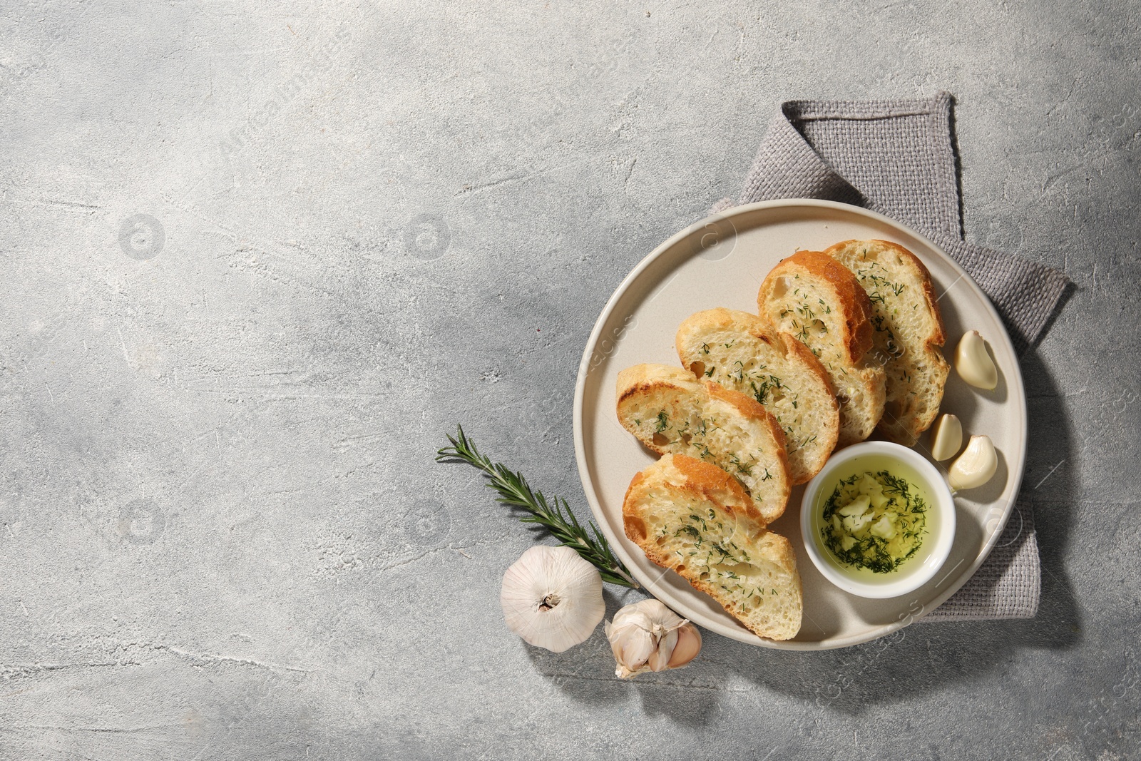
[[[667,454],[630,481],[622,519],[653,562],[681,574],[759,637],[791,639],[803,609],[796,558],[752,510],[720,468]]]

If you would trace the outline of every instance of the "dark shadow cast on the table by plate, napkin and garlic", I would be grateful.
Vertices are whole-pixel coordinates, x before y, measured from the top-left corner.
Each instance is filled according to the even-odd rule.
[[[872,642],[823,653],[768,650],[703,632],[703,651],[694,667],[631,681],[613,677],[608,643],[596,633],[564,654],[529,648],[536,666],[564,693],[585,703],[602,705],[636,691],[646,712],[702,727],[719,711],[720,693],[748,696],[763,709],[766,691],[775,690],[820,709],[857,714],[872,705],[984,679],[1004,669],[1022,648],[1075,646],[1081,640],[1079,609],[1062,568],[1075,511],[1068,469],[1061,467],[1074,461],[1071,435],[1041,359],[1030,353],[1021,364],[1033,381],[1027,383],[1031,456],[1020,497],[1035,507],[1042,558],[1042,599],[1035,618],[916,623]],[[608,589],[607,618],[637,599],[639,593],[615,594]]]

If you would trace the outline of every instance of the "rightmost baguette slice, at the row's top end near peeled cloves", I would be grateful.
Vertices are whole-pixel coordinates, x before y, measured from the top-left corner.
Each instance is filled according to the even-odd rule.
[[[876,430],[914,446],[934,422],[949,366],[931,273],[919,257],[888,241],[844,241],[825,251],[859,281],[872,302],[873,355],[888,373],[887,405]]]

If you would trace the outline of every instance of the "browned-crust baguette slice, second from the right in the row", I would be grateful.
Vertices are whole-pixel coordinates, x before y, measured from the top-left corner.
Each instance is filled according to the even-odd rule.
[[[872,302],[847,267],[820,251],[799,251],[772,268],[756,297],[761,318],[811,349],[840,403],[836,446],[863,442],[883,416],[883,367],[873,345]]]

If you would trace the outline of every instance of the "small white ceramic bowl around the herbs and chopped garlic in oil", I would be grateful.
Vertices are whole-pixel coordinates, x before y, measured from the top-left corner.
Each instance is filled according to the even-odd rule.
[[[906,478],[923,492],[928,502],[926,535],[919,551],[896,570],[887,574],[853,574],[845,570],[845,565],[820,540],[824,503],[841,479],[884,468]],[[955,539],[955,502],[942,475],[915,450],[890,442],[864,442],[833,454],[816,478],[804,487],[804,497],[800,504],[800,531],[812,564],[840,589],[866,598],[900,597],[931,581],[947,560]]]

